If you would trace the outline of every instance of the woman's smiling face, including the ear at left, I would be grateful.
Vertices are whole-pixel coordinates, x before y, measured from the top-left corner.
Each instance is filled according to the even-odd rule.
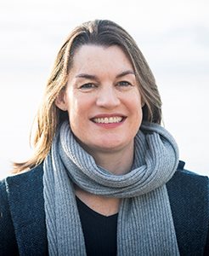
[[[59,108],[90,153],[133,148],[142,103],[131,62],[118,46],[83,45],[76,51]]]

